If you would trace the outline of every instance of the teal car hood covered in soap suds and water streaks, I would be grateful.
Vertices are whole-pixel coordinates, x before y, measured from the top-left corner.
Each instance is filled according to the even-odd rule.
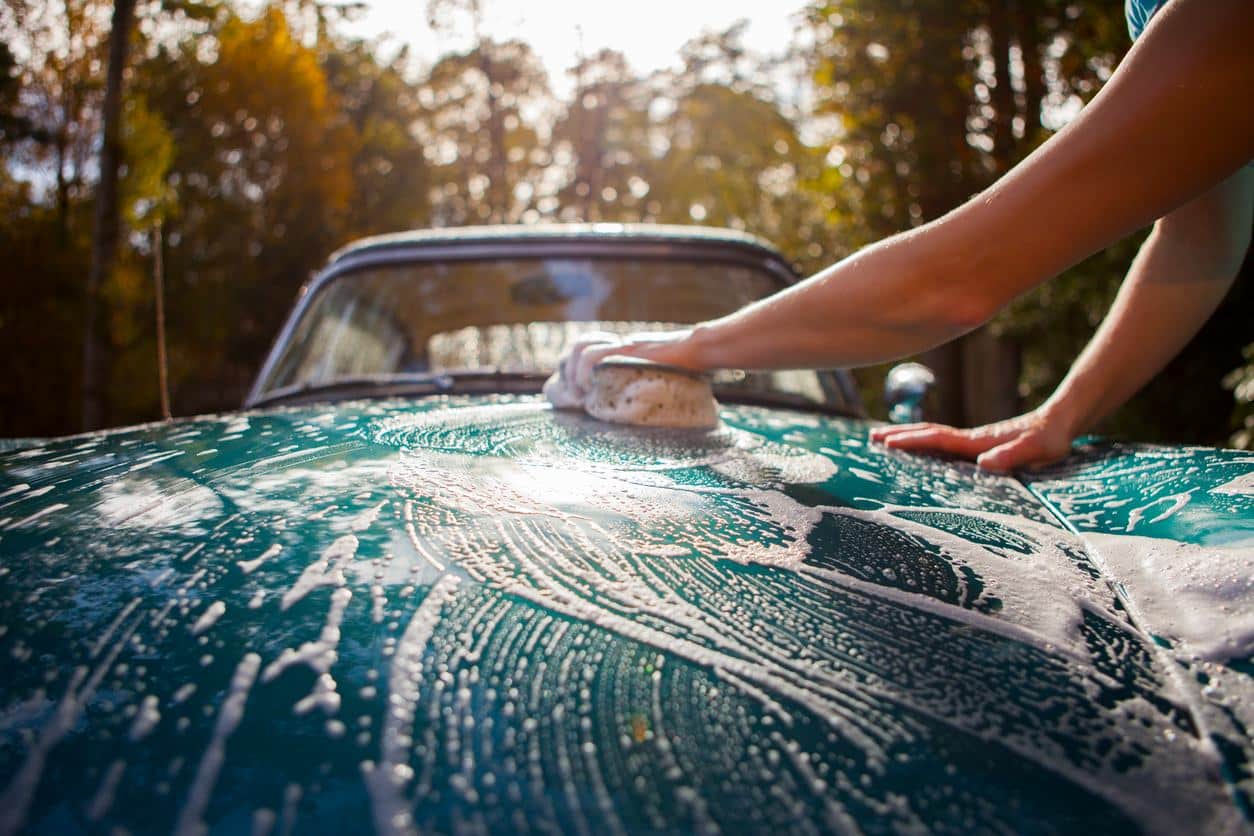
[[[1132,577],[1248,580],[1249,457],[1025,484],[722,419],[364,401],[0,452],[0,835],[1249,827],[1249,612]]]

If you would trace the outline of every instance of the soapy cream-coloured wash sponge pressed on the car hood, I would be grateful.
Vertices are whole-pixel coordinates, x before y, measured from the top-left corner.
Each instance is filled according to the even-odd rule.
[[[592,386],[581,392],[561,371],[544,384],[557,409],[583,409],[612,424],[711,429],[719,402],[706,375],[635,357],[609,357],[592,370]]]

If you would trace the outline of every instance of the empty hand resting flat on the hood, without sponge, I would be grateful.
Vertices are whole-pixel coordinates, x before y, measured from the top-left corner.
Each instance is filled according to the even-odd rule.
[[[974,459],[981,470],[1002,474],[1066,457],[1075,435],[1070,421],[1045,409],[971,430],[942,424],[905,424],[870,431],[872,441],[894,450],[952,452]]]

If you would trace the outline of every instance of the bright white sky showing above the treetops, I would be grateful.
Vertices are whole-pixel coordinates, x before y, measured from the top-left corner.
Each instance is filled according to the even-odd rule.
[[[747,19],[745,45],[756,53],[782,51],[793,35],[803,0],[626,0],[619,3],[572,0],[482,0],[484,34],[519,38],[537,51],[558,94],[573,83],[566,70],[583,54],[617,49],[637,73],[650,73],[678,63],[685,41],[703,30],[722,30]],[[408,43],[420,65],[430,65],[441,53],[470,43],[469,24],[456,33],[433,33],[426,23],[426,0],[366,0],[369,10],[350,31],[377,36],[385,43]]]

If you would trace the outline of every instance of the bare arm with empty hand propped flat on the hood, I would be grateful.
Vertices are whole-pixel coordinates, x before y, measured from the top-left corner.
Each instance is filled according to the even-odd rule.
[[[1154,226],[1093,338],[1038,409],[971,430],[918,424],[878,427],[902,450],[976,457],[986,470],[1048,464],[1174,357],[1231,287],[1250,243],[1254,169],[1245,167]]]

